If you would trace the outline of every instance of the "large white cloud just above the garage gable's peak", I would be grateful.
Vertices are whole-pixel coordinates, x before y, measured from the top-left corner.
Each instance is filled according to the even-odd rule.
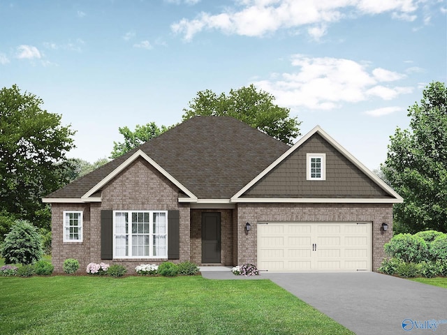
[[[254,82],[257,87],[273,94],[279,105],[287,107],[332,110],[343,103],[358,103],[370,98],[389,101],[412,91],[411,87],[382,84],[400,80],[404,75],[383,68],[369,70],[367,63],[351,59],[295,54],[291,65],[298,70]]]

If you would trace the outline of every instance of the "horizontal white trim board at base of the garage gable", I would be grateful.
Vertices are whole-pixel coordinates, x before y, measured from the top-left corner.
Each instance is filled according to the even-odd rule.
[[[368,199],[368,198],[237,198],[232,202],[240,203],[314,203],[314,204],[397,204],[402,199]]]

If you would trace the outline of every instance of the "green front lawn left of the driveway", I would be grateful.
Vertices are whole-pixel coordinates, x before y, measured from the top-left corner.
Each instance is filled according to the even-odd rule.
[[[0,277],[1,334],[353,334],[268,280]]]

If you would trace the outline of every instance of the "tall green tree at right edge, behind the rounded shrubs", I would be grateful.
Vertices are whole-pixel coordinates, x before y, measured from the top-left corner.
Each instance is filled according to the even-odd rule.
[[[447,90],[432,82],[409,107],[410,128],[390,136],[383,174],[404,198],[395,205],[402,232],[447,232]]]

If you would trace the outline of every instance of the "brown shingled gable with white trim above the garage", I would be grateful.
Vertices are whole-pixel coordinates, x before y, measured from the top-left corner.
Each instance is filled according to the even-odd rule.
[[[325,180],[307,180],[307,154],[325,154]],[[232,202],[402,202],[319,126],[237,192]]]

